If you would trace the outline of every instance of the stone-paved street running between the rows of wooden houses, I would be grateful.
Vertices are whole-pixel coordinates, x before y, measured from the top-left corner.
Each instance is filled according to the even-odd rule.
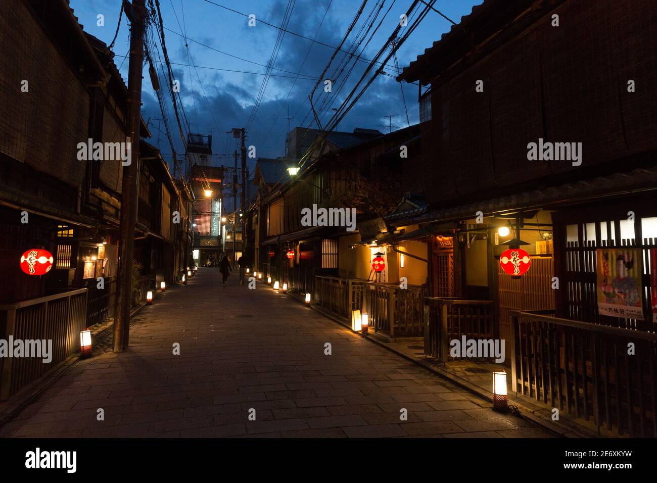
[[[264,283],[220,278],[168,289],[133,318],[129,350],[79,361],[0,436],[550,436]]]

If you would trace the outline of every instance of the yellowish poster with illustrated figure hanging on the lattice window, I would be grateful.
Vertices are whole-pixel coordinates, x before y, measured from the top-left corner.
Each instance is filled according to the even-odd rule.
[[[599,248],[596,257],[600,315],[643,320],[641,250]]]

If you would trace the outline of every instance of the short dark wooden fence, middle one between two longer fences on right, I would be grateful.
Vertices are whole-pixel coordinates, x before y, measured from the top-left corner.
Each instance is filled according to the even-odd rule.
[[[493,302],[424,297],[424,354],[449,360],[449,342],[493,338]]]

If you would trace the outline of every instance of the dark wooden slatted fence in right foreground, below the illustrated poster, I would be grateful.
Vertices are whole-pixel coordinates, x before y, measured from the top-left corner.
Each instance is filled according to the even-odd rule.
[[[600,429],[657,437],[657,334],[512,311],[511,388]]]

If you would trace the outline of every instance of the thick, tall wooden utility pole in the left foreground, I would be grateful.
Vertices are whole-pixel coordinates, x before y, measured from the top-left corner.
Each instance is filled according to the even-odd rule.
[[[129,342],[130,302],[132,299],[133,252],[135,248],[135,223],[139,196],[139,127],[141,124],[141,78],[144,64],[144,32],[147,17],[146,0],[124,0],[125,14],[130,20],[130,62],[128,89],[128,140],[131,142],[131,162],[124,166],[119,276],[117,290],[118,311],[114,317],[114,352],[123,352]]]

